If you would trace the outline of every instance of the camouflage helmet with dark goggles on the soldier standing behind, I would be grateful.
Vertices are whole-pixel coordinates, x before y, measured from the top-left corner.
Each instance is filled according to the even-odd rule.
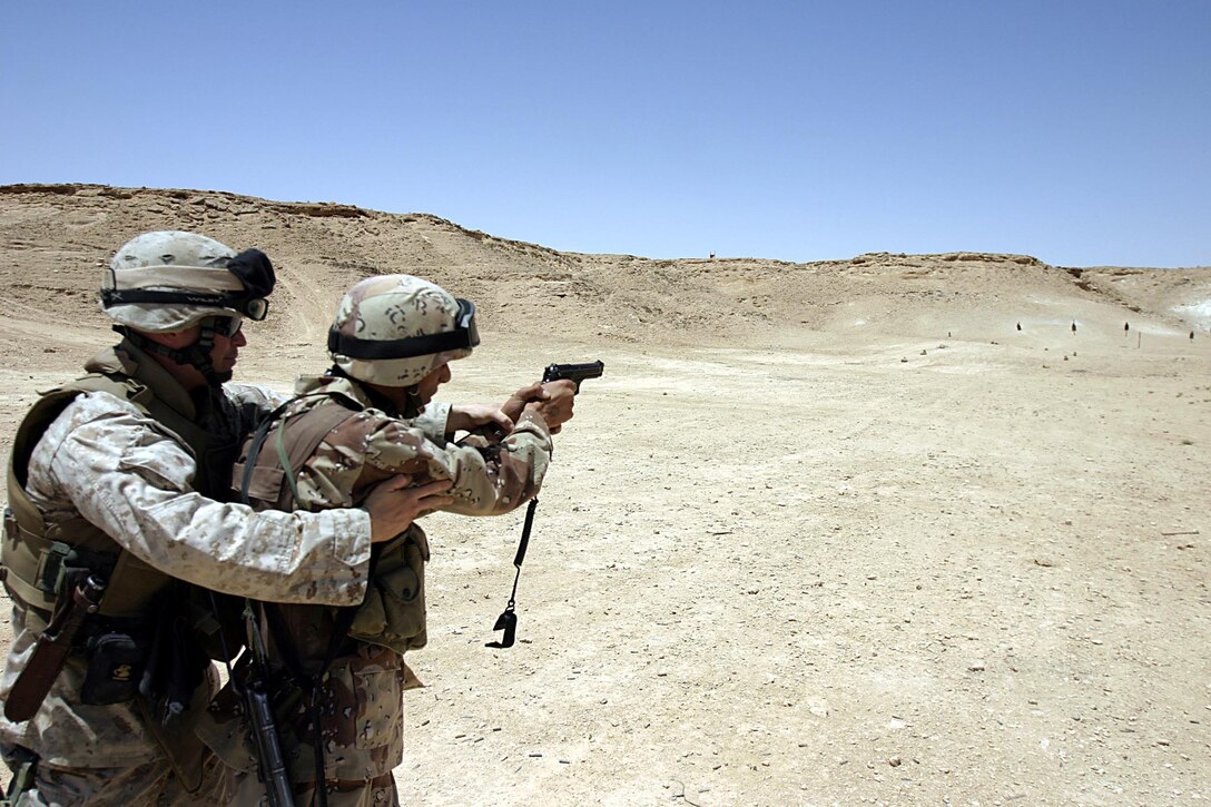
[[[101,307],[119,324],[154,333],[184,331],[216,316],[262,320],[274,280],[259,250],[236,254],[197,233],[143,233],[114,254]]]

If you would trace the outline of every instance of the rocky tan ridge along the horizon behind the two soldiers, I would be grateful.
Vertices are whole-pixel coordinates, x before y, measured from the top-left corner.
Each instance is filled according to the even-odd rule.
[[[186,229],[272,258],[270,332],[318,339],[356,280],[403,271],[476,302],[486,331],[581,342],[769,344],[796,332],[986,338],[1008,327],[1178,332],[1211,326],[1211,269],[1060,268],[1017,254],[868,253],[849,261],[655,261],[582,254],[469,230],[427,213],[282,202],[211,190],[0,185],[4,301],[62,338],[105,328],[101,268],[128,237]],[[286,316],[281,316],[285,313]],[[79,333],[76,336],[79,338]]]

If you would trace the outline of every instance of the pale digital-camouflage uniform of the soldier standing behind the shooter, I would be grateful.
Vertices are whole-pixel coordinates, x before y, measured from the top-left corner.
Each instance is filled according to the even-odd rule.
[[[133,377],[153,379],[161,390],[176,385],[138,349],[124,344],[122,355],[127,367],[137,365]],[[108,350],[86,368],[113,367],[116,357]],[[236,440],[248,433],[252,417],[277,402],[257,388],[228,384],[210,411],[194,410],[197,399],[179,385],[172,402],[186,417]],[[84,516],[140,560],[201,586],[283,602],[342,606],[363,600],[371,559],[365,511],[256,514],[202,498],[191,488],[196,468],[190,450],[138,408],[105,393],[85,393],[39,440],[27,491],[47,521]],[[7,698],[33,652],[36,635],[27,622],[25,612],[15,608],[0,698]],[[58,795],[56,803],[191,803],[174,792],[168,765],[137,702],[79,703],[84,670],[82,659],[73,654],[33,719],[13,723],[0,716],[6,755],[13,745],[39,754],[39,786]],[[203,714],[212,691],[203,686],[186,716]],[[212,773],[213,762],[203,761]],[[207,786],[195,800],[217,803]]]

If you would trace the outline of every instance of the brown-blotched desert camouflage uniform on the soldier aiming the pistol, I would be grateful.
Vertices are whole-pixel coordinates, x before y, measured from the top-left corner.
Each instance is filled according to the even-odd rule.
[[[365,496],[368,485],[402,473],[411,474],[415,485],[453,480],[449,493],[454,503],[444,508],[449,511],[493,515],[527,502],[541,485],[552,446],[540,417],[523,414],[504,440],[499,457],[486,460],[476,448],[447,442],[440,431],[432,434],[430,429],[426,435],[417,428],[417,422],[392,419],[371,408],[371,401],[356,382],[303,378],[297,391],[308,394],[321,389],[338,393],[361,411],[350,411],[348,419],[332,429],[304,467],[297,469],[298,508],[325,510],[354,505]],[[339,404],[327,396],[302,399],[287,418],[318,406]],[[272,434],[266,445],[272,442]],[[235,482],[239,483],[239,480]],[[418,525],[396,540],[408,545],[406,555],[415,566],[409,572],[415,574],[409,577],[414,580],[411,583],[414,599],[409,602],[411,607],[397,613],[414,626],[412,630],[396,626],[404,634],[415,631],[415,635],[395,649],[346,640],[323,679],[321,726],[325,777],[328,803],[333,806],[398,803],[391,771],[403,761],[402,693],[414,679],[397,651],[404,649],[404,646],[420,647],[425,642],[423,576],[429,544]],[[383,570],[378,570],[375,577],[381,573]],[[320,669],[328,648],[335,609],[293,605],[280,611],[306,672],[312,675]],[[361,617],[362,612],[358,612],[358,620]],[[281,648],[274,647],[271,636],[269,639],[269,656],[275,672],[285,680],[288,674],[287,665],[281,660]],[[282,751],[299,807],[315,803],[312,729],[305,700],[303,693],[288,683],[285,694],[275,700]],[[231,803],[257,803],[254,799],[263,795],[264,788],[257,782],[256,762],[249,756],[251,745],[246,744],[231,706],[231,694],[225,689],[212,706],[217,719],[216,731],[208,733],[203,728],[202,736],[225,762],[243,771],[236,777],[228,800]]]

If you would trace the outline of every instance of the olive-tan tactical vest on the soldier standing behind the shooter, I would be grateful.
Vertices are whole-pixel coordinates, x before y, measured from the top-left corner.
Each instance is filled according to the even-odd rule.
[[[78,395],[109,393],[172,430],[197,458],[194,488],[211,498],[226,497],[229,469],[239,447],[234,440],[230,445],[218,445],[216,435],[168,406],[162,400],[163,391],[157,394],[154,387],[163,382],[153,379],[145,383],[126,374],[138,372],[138,366],[130,356],[115,354],[98,370],[99,372],[45,393],[34,404],[17,429],[8,460],[8,509],[5,511],[4,540],[0,543],[0,574],[4,576],[5,588],[13,602],[33,611],[42,622],[54,606],[57,586],[62,583],[58,571],[65,562],[99,567],[97,571],[105,573],[109,585],[99,608],[103,617],[147,616],[149,603],[172,579],[133,554],[124,551],[109,534],[82,516],[47,523],[25,493],[34,447]],[[180,394],[180,390],[176,393]]]

